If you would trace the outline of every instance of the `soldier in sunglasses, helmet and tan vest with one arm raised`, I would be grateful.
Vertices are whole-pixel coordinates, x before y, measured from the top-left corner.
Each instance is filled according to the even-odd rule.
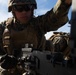
[[[13,17],[4,24],[3,48],[8,55],[22,57],[25,44],[33,50],[45,50],[45,34],[57,30],[68,22],[71,0],[58,0],[45,15],[34,17],[35,0],[9,0],[8,11]],[[2,24],[1,24],[2,25]],[[2,36],[2,34],[1,34]]]

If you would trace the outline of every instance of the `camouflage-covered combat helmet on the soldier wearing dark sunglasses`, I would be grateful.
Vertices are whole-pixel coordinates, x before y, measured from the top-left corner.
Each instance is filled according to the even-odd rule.
[[[34,9],[37,9],[36,0],[9,0],[8,2],[8,12],[11,12],[12,6],[17,5],[18,3],[32,4],[34,5]]]

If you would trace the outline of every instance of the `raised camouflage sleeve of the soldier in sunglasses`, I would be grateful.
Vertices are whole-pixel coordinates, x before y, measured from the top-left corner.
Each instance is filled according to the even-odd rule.
[[[45,34],[49,31],[54,31],[68,22],[68,12],[71,4],[65,4],[58,0],[54,8],[48,11],[45,15],[37,17],[39,28]]]

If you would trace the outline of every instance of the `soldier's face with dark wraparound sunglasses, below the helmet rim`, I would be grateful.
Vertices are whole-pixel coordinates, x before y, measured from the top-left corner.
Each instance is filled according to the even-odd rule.
[[[21,23],[27,23],[31,19],[32,11],[28,5],[17,5],[14,7],[14,13],[16,18]]]

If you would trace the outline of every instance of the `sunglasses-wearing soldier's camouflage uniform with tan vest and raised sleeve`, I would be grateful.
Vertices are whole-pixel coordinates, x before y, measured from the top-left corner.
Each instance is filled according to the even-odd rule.
[[[45,50],[46,39],[44,35],[49,31],[57,30],[68,21],[67,13],[69,8],[70,5],[66,6],[63,2],[60,5],[57,3],[45,15],[32,17],[26,25],[20,24],[15,18],[10,21],[9,18],[6,22],[6,28],[10,34],[11,48],[18,50],[16,52],[19,54],[19,50],[28,43],[29,45],[33,44],[33,49]],[[4,46],[6,45],[4,38],[8,32],[4,31],[3,34]]]

